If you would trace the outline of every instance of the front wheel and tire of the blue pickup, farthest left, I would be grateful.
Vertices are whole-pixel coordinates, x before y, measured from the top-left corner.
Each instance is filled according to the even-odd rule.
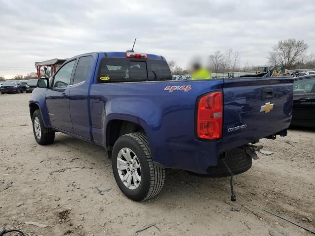
[[[40,126],[40,129],[39,129],[40,137],[37,137],[36,135],[36,131],[38,131],[38,129],[36,129],[35,131],[35,128],[36,128],[35,126],[37,125],[37,123],[39,123],[39,126]],[[39,110],[36,110],[33,114],[32,125],[33,125],[34,137],[38,144],[48,145],[54,142],[55,131],[53,129],[45,128]]]

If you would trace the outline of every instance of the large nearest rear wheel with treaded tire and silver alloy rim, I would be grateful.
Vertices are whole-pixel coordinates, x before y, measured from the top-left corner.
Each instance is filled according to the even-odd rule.
[[[125,185],[127,184],[127,181],[123,181],[122,179],[127,176],[127,170],[118,170],[117,168],[117,160],[124,159],[125,155],[123,154],[123,152],[127,149],[129,149],[130,156],[131,158],[133,158],[131,159],[131,161],[135,161],[136,163],[134,164],[134,168],[136,168],[136,166],[140,166],[140,175],[139,169],[134,169],[133,173],[131,173],[132,170],[131,172],[129,170],[129,174],[131,173],[131,175],[135,175],[135,173],[137,172],[138,176],[141,177],[141,180],[138,182],[138,186],[136,186],[135,183],[137,182],[137,180],[134,181],[135,177],[132,176],[132,180],[130,180],[129,184],[131,184],[131,182],[133,182],[133,184],[127,187]],[[136,157],[134,157],[133,154],[135,154]],[[131,165],[132,164],[128,166],[131,168]],[[125,164],[120,164],[119,166],[120,168],[125,168]],[[133,201],[139,202],[153,198],[161,191],[164,185],[165,169],[163,167],[156,166],[153,163],[149,142],[147,136],[143,133],[126,134],[121,136],[116,141],[112,152],[112,168],[115,180],[119,188],[126,195],[126,197],[130,198]]]

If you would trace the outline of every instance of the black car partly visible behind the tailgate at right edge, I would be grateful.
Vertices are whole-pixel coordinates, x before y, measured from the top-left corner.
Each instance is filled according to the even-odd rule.
[[[315,127],[315,75],[294,80],[292,113],[291,125]]]

